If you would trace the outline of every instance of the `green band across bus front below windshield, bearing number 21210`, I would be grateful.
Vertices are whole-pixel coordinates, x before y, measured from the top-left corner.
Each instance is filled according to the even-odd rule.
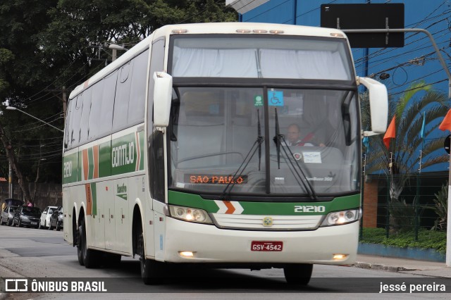
[[[235,203],[236,201],[231,201]],[[238,201],[244,209],[242,215],[325,215],[330,211],[341,211],[360,206],[360,195],[341,196],[333,199],[333,201],[323,202],[258,202],[258,201]],[[203,199],[201,196],[194,194],[185,194],[183,192],[168,191],[168,204],[179,206],[189,206],[192,208],[201,208],[209,213],[217,213],[219,206],[213,200]],[[324,206],[324,210],[314,212],[295,212],[295,206]],[[309,209],[303,209],[309,211]]]

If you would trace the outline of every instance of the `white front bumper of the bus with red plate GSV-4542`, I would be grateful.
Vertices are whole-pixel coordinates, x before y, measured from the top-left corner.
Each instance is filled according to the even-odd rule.
[[[358,232],[359,222],[308,231],[254,231],[167,218],[163,256],[172,263],[351,265],[357,256]],[[261,242],[281,245],[281,251],[255,251],[252,244]],[[192,256],[184,256],[184,251]],[[338,254],[344,256],[337,258]]]

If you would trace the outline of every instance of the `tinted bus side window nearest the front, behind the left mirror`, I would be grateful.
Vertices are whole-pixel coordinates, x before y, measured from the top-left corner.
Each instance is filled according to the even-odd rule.
[[[144,121],[148,60],[149,50],[144,51],[134,59],[130,104],[128,106],[128,124],[136,124]]]

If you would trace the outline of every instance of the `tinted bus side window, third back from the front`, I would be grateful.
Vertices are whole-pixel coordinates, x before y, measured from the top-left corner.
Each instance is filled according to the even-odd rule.
[[[111,132],[111,126],[113,125],[114,95],[116,94],[117,78],[117,70],[111,75],[108,75],[104,78],[104,89],[101,99],[101,113],[98,116],[100,118],[99,137]]]

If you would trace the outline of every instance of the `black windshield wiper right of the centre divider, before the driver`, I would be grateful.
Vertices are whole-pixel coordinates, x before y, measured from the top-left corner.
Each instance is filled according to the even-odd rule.
[[[297,161],[295,161],[297,168],[296,168],[295,164],[293,164],[293,160],[291,158],[294,158],[295,156],[293,155],[290,147],[287,146],[287,143],[285,142],[285,137],[283,135],[280,135],[280,127],[279,127],[279,121],[278,121],[277,108],[274,108],[274,113],[276,114],[275,115],[276,135],[273,137],[273,141],[276,143],[278,168],[280,169],[280,146],[282,146],[285,157],[288,158],[288,161],[290,162],[290,165],[292,166],[292,170],[297,175],[297,178],[295,176],[296,181],[298,183],[300,181],[300,183],[304,186],[304,189],[309,194],[310,199],[317,200],[318,198],[316,197],[315,190],[311,186],[309,180],[307,179],[307,176],[305,175],[304,170],[302,170],[301,166],[299,165],[299,163],[297,163]],[[288,156],[288,152],[286,149],[288,149],[288,152],[290,152],[290,156]],[[295,175],[294,173],[293,173],[293,175]]]

